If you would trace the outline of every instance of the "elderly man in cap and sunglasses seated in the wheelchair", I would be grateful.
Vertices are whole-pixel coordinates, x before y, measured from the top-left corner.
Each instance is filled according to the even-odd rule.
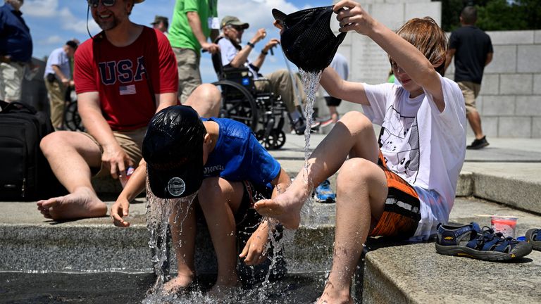
[[[282,96],[282,101],[285,103],[288,117],[290,118],[291,129],[297,134],[304,134],[306,122],[302,115],[299,102],[295,98],[294,84],[290,73],[287,70],[277,70],[264,76],[259,74],[259,69],[263,65],[268,52],[272,52],[273,47],[279,44],[280,41],[274,38],[270,39],[263,46],[263,49],[261,49],[258,58],[252,63],[249,61],[248,56],[254,50],[255,44],[266,37],[266,30],[264,28],[257,30],[254,37],[247,42],[246,46],[242,47],[242,34],[249,27],[248,23],[243,23],[239,18],[228,15],[222,19],[220,27],[222,34],[216,39],[216,44],[220,46],[223,67],[246,67],[251,72],[254,80],[261,77],[266,78],[268,81],[254,82],[256,89],[258,91],[272,91],[276,96]],[[297,82],[297,88],[299,88],[302,103],[304,103],[306,101],[306,94],[302,89],[299,77],[295,77],[295,80]],[[314,122],[311,128],[318,127],[318,124],[318,122]]]

